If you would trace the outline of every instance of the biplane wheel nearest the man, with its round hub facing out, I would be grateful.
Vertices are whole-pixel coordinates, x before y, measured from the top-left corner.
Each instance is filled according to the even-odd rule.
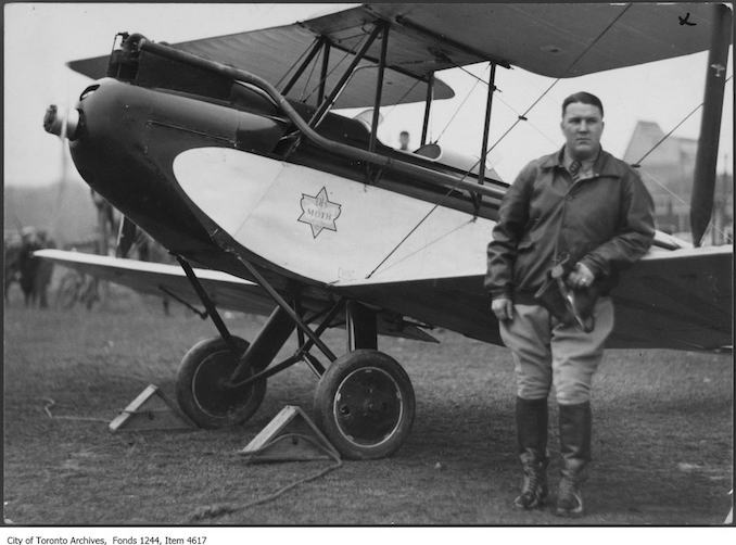
[[[356,350],[335,359],[315,394],[315,420],[345,458],[392,455],[411,430],[414,388],[391,356]]]

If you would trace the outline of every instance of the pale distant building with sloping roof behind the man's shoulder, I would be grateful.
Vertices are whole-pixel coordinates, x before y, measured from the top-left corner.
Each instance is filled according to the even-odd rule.
[[[638,122],[623,160],[630,164],[642,163],[638,172],[655,201],[657,228],[690,240],[690,194],[698,141],[694,138],[670,136],[649,153],[663,137],[664,131],[657,123]],[[733,176],[719,173],[713,220],[703,238],[703,244],[724,244],[733,240]]]

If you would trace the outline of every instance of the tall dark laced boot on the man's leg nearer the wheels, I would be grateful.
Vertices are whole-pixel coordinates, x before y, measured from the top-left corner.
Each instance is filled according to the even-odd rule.
[[[524,481],[513,507],[533,509],[547,498],[547,398],[517,397],[516,418]]]

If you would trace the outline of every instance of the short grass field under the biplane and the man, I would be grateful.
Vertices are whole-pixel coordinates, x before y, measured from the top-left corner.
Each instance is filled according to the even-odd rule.
[[[229,315],[252,339],[263,318]],[[118,432],[112,420],[149,383],[174,397],[181,356],[214,327],[174,304],[122,292],[103,308],[4,312],[4,516],[16,524],[561,524],[519,512],[513,375],[505,348],[439,331],[442,344],[380,339],[417,397],[408,441],[389,459],[345,461],[275,500],[241,508],[330,466],[246,465],[236,453],[281,409],[310,413],[302,364],[269,380],[244,426]],[[344,338],[325,339],[338,353]],[[283,355],[294,350],[290,341]],[[49,407],[50,417],[45,407]],[[556,410],[553,405],[553,422]],[[65,418],[59,418],[65,417]],[[73,418],[66,418],[73,417]],[[594,384],[588,515],[574,524],[720,524],[731,508],[733,360],[610,351]],[[559,464],[557,432],[550,430]]]

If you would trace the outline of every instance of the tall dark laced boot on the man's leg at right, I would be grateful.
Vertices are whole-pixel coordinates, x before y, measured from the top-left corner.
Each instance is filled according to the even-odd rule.
[[[583,515],[582,485],[587,479],[591,461],[591,403],[560,405],[561,479],[557,492],[557,515]]]

